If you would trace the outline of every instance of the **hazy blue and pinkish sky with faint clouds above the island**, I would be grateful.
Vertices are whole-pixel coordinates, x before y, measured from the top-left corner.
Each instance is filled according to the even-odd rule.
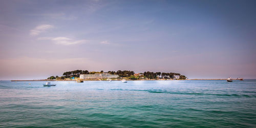
[[[0,1],[0,80],[73,70],[256,78],[256,1]]]

